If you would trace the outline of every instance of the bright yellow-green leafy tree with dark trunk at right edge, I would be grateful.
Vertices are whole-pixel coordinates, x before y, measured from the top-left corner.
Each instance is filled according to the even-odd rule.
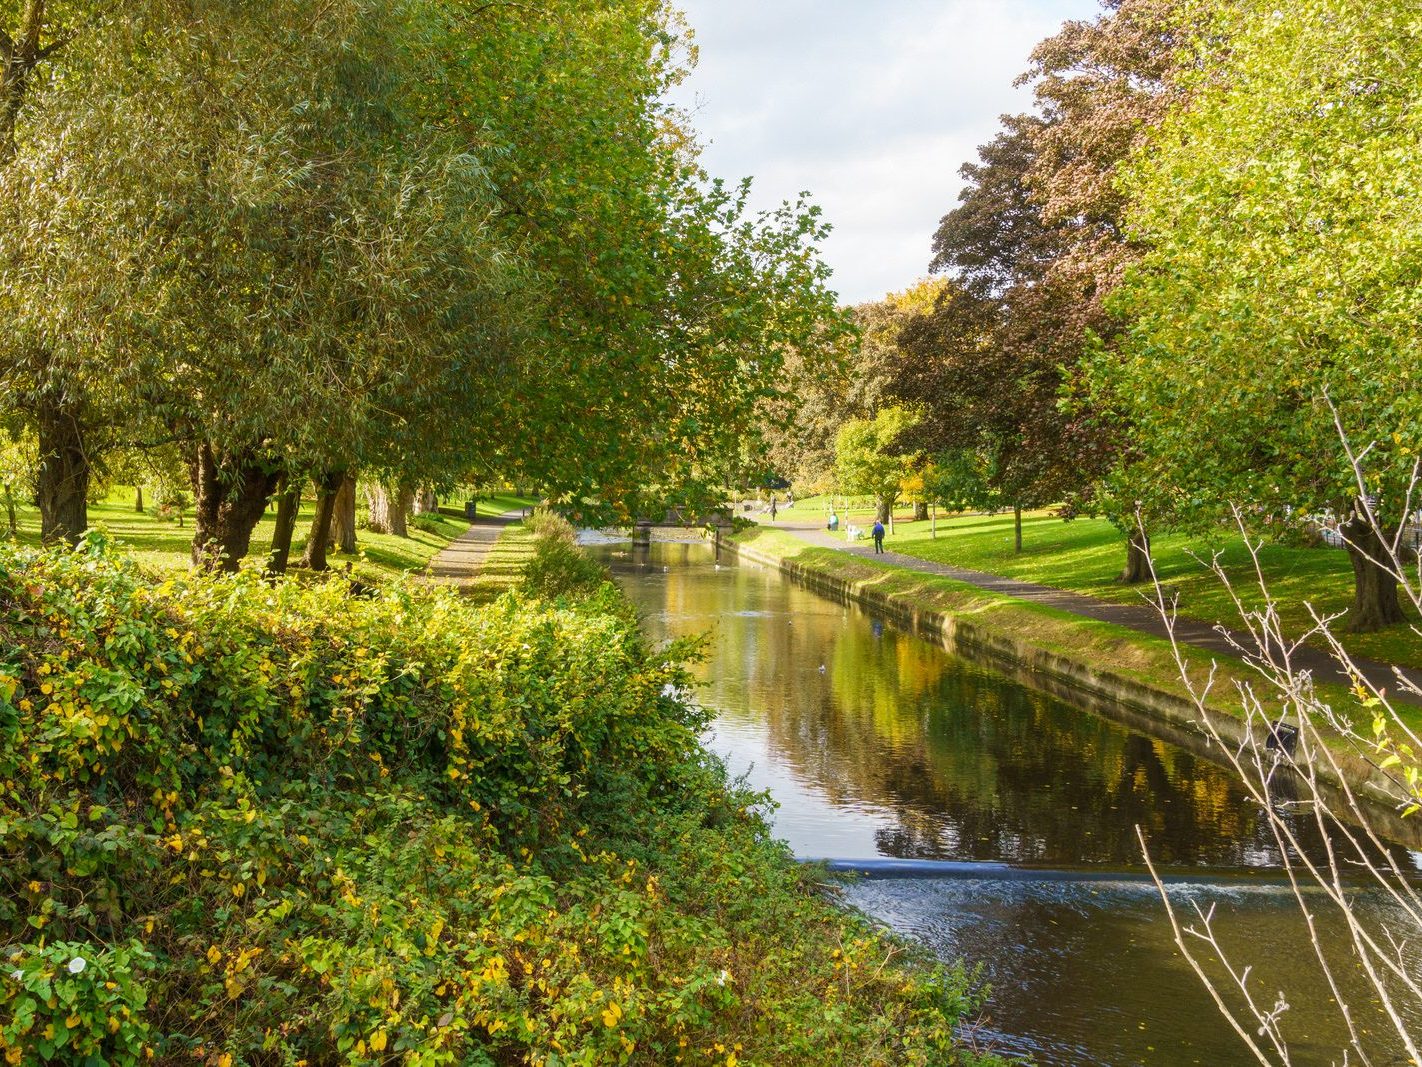
[[[1422,448],[1422,3],[1207,11],[1193,102],[1129,172],[1148,252],[1121,293],[1130,357],[1098,373],[1162,494],[1260,528],[1334,509],[1349,627],[1399,623],[1382,542]],[[1367,492],[1335,417],[1367,450]]]

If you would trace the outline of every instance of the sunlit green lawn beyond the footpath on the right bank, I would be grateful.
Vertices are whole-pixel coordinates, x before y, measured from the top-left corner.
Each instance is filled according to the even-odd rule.
[[[781,516],[816,518],[825,514],[825,498],[796,501],[793,509],[781,509]],[[860,524],[870,521],[872,508],[850,509],[849,516]],[[1135,603],[1140,586],[1116,585],[1115,578],[1125,563],[1125,542],[1105,519],[1078,518],[1064,522],[1048,512],[1031,512],[1022,518],[1022,552],[1012,552],[1012,515],[939,516],[939,536],[930,535],[929,522],[912,522],[912,508],[896,509],[894,532],[887,545],[909,556],[930,559],[951,566],[985,570],[1025,582],[1037,582],[1057,589],[1096,596],[1103,600]],[[845,514],[840,514],[843,521]],[[1199,538],[1162,534],[1152,541],[1156,573],[1176,590],[1180,613],[1203,622],[1237,623],[1239,615],[1229,593],[1206,563],[1220,553],[1226,573],[1247,603],[1261,602],[1253,563],[1239,536],[1221,536],[1210,545]],[[1332,615],[1352,602],[1352,566],[1348,555],[1332,548],[1288,548],[1266,545],[1260,563],[1268,590],[1278,603],[1280,615],[1293,633],[1303,633],[1311,625],[1307,605]],[[1412,613],[1416,622],[1415,612]],[[1342,629],[1344,620],[1337,629]],[[1422,666],[1422,637],[1408,627],[1392,627],[1382,633],[1344,633],[1344,644],[1355,656]]]

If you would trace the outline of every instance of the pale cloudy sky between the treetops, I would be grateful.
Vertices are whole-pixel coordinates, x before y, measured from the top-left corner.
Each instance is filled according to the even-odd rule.
[[[720,178],[771,208],[802,189],[835,232],[833,287],[859,303],[929,269],[958,168],[1030,105],[1032,46],[1098,0],[681,0],[701,58],[675,101]]]

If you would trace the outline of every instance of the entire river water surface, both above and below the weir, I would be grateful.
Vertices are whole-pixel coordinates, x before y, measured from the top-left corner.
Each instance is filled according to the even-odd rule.
[[[798,856],[1066,872],[869,879],[845,893],[943,959],[983,965],[984,1046],[1041,1064],[1253,1061],[1172,943],[1155,888],[1139,881],[1140,825],[1155,862],[1187,876],[1172,899],[1213,906],[1226,950],[1253,967],[1253,994],[1290,1004],[1291,1061],[1342,1063],[1345,1031],[1297,903],[1260,878],[1278,866],[1273,835],[1223,768],[771,569],[718,562],[710,545],[589,551],[613,568],[653,637],[708,636],[697,669],[697,699],[715,714],[707,744],[774,798],[775,832]],[[1413,854],[1395,855],[1418,866]],[[1361,906],[1386,913],[1388,903]],[[1321,896],[1315,912],[1325,950],[1344,959]],[[1422,975],[1416,956],[1412,966]],[[1354,1012],[1362,1029],[1384,1030],[1368,1002]],[[1391,1050],[1375,1060],[1406,1061]]]

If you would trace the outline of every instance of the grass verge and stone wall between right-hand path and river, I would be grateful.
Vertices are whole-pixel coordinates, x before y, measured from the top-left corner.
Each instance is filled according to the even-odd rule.
[[[793,535],[752,529],[711,534],[718,551],[778,570],[798,585],[839,603],[855,603],[950,653],[984,663],[1018,681],[1140,733],[1160,737],[1204,758],[1226,763],[1220,745],[1239,750],[1251,728],[1240,710],[1239,686],[1267,683],[1243,660],[1227,662],[1180,649],[1192,684],[1213,677],[1204,700],[1193,700],[1170,643],[1122,626],[1071,616],[967,586],[805,545]],[[1340,696],[1345,697],[1341,687]],[[1264,726],[1254,724],[1263,747]],[[1216,740],[1216,736],[1219,740]],[[1334,790],[1365,797],[1375,829],[1422,848],[1422,824],[1396,817],[1388,780],[1340,740],[1331,758],[1314,761],[1318,778]]]

